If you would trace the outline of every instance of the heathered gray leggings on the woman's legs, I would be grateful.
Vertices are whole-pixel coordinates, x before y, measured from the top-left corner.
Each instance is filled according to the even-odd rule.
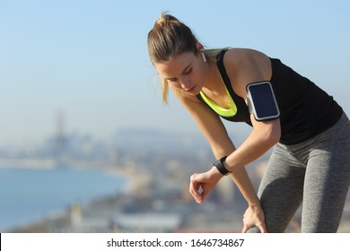
[[[345,114],[308,141],[277,143],[258,189],[268,232],[284,232],[301,203],[302,232],[337,232],[349,186],[350,122]]]

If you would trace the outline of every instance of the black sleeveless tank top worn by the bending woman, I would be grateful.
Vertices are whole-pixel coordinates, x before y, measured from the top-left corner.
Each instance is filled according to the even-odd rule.
[[[223,117],[233,122],[245,122],[251,125],[249,108],[246,102],[232,89],[230,78],[223,65],[224,49],[216,58],[216,64],[223,82],[236,104],[237,113],[232,117]],[[280,143],[302,143],[335,125],[343,114],[343,109],[333,97],[322,91],[309,79],[297,74],[279,59],[270,58],[272,67],[271,84],[280,110]],[[200,95],[199,100],[204,101]]]

